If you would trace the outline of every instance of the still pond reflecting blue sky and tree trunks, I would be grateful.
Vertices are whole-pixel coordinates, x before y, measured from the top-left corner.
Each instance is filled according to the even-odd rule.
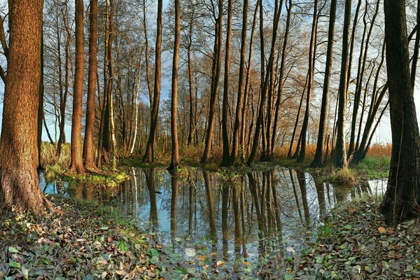
[[[177,176],[161,168],[128,171],[130,180],[112,191],[42,178],[41,188],[139,218],[139,226],[162,244],[168,267],[208,263],[230,274],[246,274],[272,256],[293,257],[314,241],[320,220],[337,202],[386,190],[386,180],[344,188],[281,167],[248,174],[187,169]]]

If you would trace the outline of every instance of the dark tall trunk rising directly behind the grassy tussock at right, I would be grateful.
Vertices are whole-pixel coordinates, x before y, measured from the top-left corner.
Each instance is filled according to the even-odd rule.
[[[347,74],[349,71],[349,34],[351,20],[351,0],[344,5],[344,26],[342,38],[342,65],[338,87],[338,118],[337,118],[337,144],[335,146],[335,165],[343,168],[347,165],[346,138],[344,134],[347,100]]]

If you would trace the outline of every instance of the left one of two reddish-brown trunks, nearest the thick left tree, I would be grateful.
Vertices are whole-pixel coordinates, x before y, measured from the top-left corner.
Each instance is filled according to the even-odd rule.
[[[76,67],[73,90],[73,115],[71,116],[71,165],[70,171],[85,172],[82,154],[82,99],[85,64],[83,0],[76,0]]]

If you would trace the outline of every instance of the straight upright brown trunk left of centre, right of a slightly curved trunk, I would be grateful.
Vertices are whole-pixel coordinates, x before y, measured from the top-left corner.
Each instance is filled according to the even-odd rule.
[[[178,143],[178,124],[176,123],[176,112],[178,111],[178,66],[179,66],[179,34],[181,33],[181,7],[179,0],[175,0],[175,38],[174,38],[174,57],[172,60],[172,97],[171,97],[171,139],[172,156],[169,170],[174,170],[179,166],[179,143]]]

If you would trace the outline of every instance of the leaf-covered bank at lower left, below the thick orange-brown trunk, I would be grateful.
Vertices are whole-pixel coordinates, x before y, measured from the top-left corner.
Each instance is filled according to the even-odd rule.
[[[0,211],[1,279],[160,279],[160,246],[134,220],[92,202],[48,200],[55,209],[40,218]]]

